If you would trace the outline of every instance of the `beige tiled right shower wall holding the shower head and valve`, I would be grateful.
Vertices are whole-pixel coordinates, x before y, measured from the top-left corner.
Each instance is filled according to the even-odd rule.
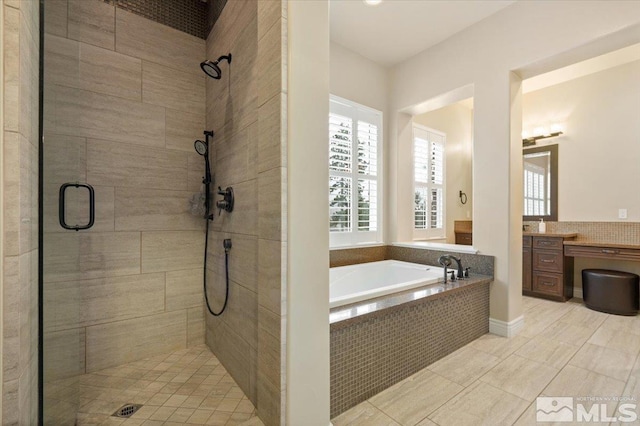
[[[207,314],[207,345],[267,425],[284,413],[286,287],[286,2],[230,1],[207,39],[207,57],[232,53],[208,79],[207,127],[216,132],[215,184],[236,204],[212,222],[209,291],[224,297],[222,239],[231,238],[230,295]],[[217,213],[217,212],[216,212]]]

